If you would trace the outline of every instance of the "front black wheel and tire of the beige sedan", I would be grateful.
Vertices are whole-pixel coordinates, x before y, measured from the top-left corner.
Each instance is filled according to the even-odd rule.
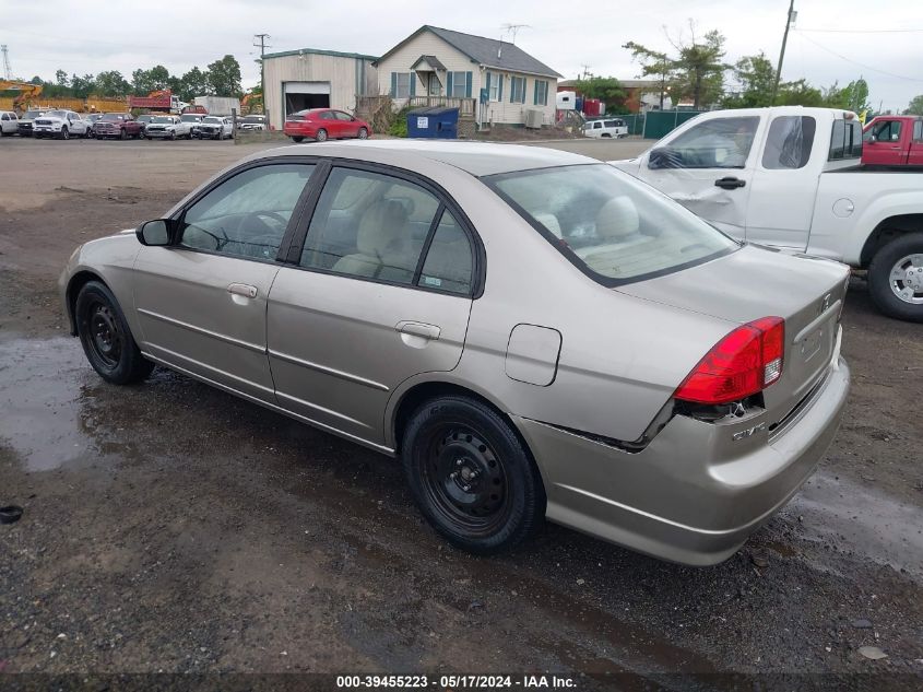
[[[99,281],[88,281],[74,304],[76,331],[86,359],[114,385],[141,382],[154,364],[141,355],[116,296]]]

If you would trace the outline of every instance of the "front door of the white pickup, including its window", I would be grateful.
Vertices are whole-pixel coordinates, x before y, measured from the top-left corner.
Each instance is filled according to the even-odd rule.
[[[759,116],[697,118],[644,154],[638,177],[744,238],[761,132]]]

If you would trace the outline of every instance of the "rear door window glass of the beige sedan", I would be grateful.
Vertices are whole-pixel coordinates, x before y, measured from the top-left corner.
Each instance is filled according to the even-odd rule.
[[[439,200],[418,185],[366,171],[330,173],[300,266],[449,293],[471,289],[468,236]]]

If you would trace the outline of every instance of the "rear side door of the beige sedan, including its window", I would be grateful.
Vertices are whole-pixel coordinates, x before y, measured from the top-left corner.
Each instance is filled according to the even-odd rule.
[[[418,373],[451,371],[461,357],[481,266],[463,224],[458,207],[425,181],[333,166],[297,266],[280,270],[270,294],[280,406],[383,444],[394,389]]]

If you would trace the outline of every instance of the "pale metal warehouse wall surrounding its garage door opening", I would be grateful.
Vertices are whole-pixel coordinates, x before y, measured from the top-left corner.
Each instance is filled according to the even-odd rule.
[[[356,107],[356,96],[378,93],[378,71],[370,60],[306,52],[267,58],[264,69],[265,105],[277,129],[282,129],[284,118],[283,82],[329,82],[330,107],[348,113]]]

